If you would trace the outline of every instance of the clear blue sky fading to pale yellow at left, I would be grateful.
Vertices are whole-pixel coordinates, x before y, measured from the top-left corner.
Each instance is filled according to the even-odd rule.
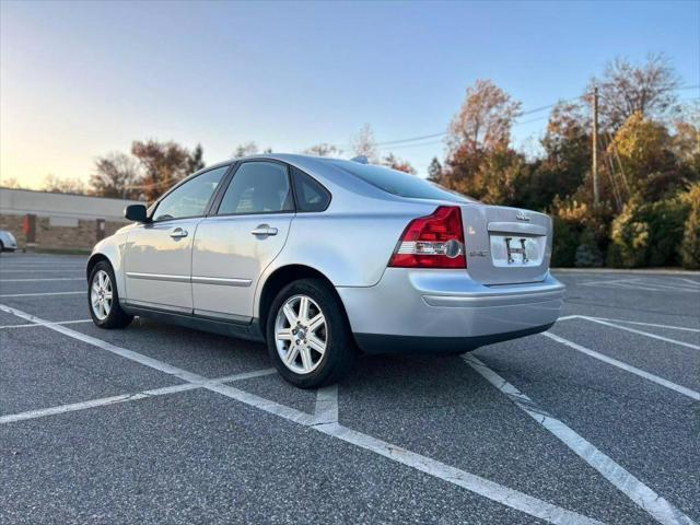
[[[33,186],[86,179],[136,139],[201,142],[213,163],[248,140],[348,149],[364,122],[378,141],[440,132],[477,79],[535,108],[618,55],[664,51],[700,83],[699,1],[0,5],[0,177]],[[518,143],[546,117],[523,117]],[[392,151],[424,175],[443,156],[425,142]]]

